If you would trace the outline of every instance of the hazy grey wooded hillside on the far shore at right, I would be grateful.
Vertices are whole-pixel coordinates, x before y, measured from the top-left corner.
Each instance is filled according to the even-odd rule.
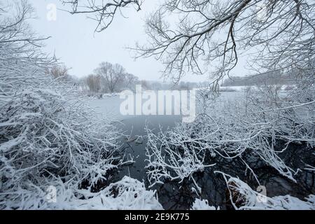
[[[242,85],[293,85],[295,84],[293,72],[269,71],[254,76],[234,76],[223,81],[222,86]]]

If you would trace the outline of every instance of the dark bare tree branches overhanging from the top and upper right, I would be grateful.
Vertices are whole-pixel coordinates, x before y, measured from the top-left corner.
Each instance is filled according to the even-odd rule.
[[[98,27],[105,22],[101,30],[111,24],[117,8],[140,6],[139,1],[89,1],[79,12],[78,1],[68,3],[73,13],[94,15]],[[160,59],[165,76],[176,83],[187,71],[216,68],[211,73],[218,85],[235,68],[238,55],[248,50],[256,52],[251,62],[257,71],[311,69],[314,12],[311,0],[165,0],[146,20],[148,44],[137,44],[135,50],[139,57]]]

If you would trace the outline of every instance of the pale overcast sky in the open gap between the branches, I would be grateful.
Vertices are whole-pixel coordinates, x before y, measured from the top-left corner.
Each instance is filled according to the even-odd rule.
[[[142,10],[133,8],[123,10],[126,18],[118,15],[112,25],[102,33],[94,33],[96,22],[86,15],[71,15],[57,10],[57,20],[48,21],[47,6],[55,3],[57,8],[64,8],[59,0],[29,0],[36,10],[37,19],[31,25],[41,36],[52,36],[46,41],[45,51],[55,53],[57,58],[71,68],[70,74],[83,77],[92,73],[100,62],[122,64],[125,69],[140,79],[158,80],[163,66],[153,58],[134,59],[134,53],[126,47],[132,47],[136,41],[145,43],[144,18],[150,13],[158,1],[144,1]],[[235,73],[244,74],[244,62]],[[203,81],[204,76],[186,76],[185,81]]]

